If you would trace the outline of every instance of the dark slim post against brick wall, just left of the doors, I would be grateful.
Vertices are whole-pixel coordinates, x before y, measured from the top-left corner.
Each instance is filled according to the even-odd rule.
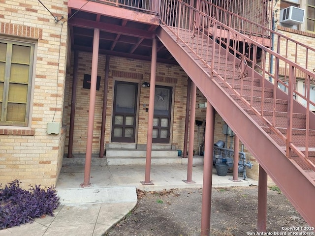
[[[109,74],[109,56],[106,56],[105,62],[105,78],[104,78],[104,93],[103,93],[103,112],[102,112],[102,127],[100,132],[100,147],[99,157],[104,156],[104,143],[105,143],[105,124],[106,124],[106,110],[107,110],[107,91],[108,91],[108,74]]]

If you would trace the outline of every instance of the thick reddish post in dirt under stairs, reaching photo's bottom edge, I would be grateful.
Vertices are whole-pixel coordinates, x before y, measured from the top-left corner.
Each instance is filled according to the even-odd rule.
[[[201,205],[201,236],[210,235],[211,190],[213,168],[213,143],[215,131],[215,110],[207,101],[205,153],[203,163],[202,205]]]

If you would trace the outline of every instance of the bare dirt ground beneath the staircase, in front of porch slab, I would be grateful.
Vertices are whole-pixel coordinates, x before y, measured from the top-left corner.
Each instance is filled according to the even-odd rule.
[[[257,235],[257,198],[257,186],[213,188],[210,235]],[[138,191],[137,206],[105,235],[199,236],[201,199],[202,189]],[[313,235],[314,231],[304,228],[308,224],[278,187],[269,187],[267,206],[269,235]]]

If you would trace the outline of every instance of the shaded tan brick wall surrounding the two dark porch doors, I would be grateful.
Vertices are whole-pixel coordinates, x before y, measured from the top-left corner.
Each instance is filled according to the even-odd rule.
[[[98,73],[101,77],[100,90],[96,92],[95,98],[95,125],[93,134],[93,153],[99,152],[100,145],[100,130],[102,118],[102,101],[104,90],[104,70],[105,70],[105,56],[99,55],[98,59]],[[71,59],[73,63],[73,59]],[[90,90],[83,89],[84,74],[91,74],[92,55],[90,53],[79,52],[79,69],[77,82],[77,99],[75,111],[75,125],[74,125],[74,139],[73,139],[73,153],[86,152],[87,139],[87,124],[88,124],[88,110],[89,110],[89,96]],[[73,65],[72,65],[73,66]],[[72,67],[71,66],[71,67]],[[125,72],[125,73],[123,73]],[[72,68],[68,70],[66,82],[66,94],[64,109],[64,117],[67,118],[67,125],[70,122],[70,101],[72,89]],[[147,121],[148,113],[146,108],[149,107],[149,88],[141,87],[143,82],[150,82],[151,62],[136,59],[126,59],[119,57],[110,57],[109,66],[109,83],[107,88],[107,113],[106,113],[106,129],[105,142],[110,142],[110,132],[112,124],[112,106],[113,106],[113,83],[115,80],[129,81],[139,83],[139,97],[138,97],[138,125],[137,125],[137,144],[147,143]],[[177,82],[177,83],[176,83]],[[185,132],[185,113],[186,113],[186,97],[187,97],[187,75],[179,67],[175,65],[168,65],[163,63],[157,64],[157,78],[156,85],[169,86],[173,88],[173,128],[171,133],[171,144],[176,148],[183,149],[184,147],[184,132]],[[145,104],[145,107],[144,107]],[[68,130],[66,149],[68,146]]]

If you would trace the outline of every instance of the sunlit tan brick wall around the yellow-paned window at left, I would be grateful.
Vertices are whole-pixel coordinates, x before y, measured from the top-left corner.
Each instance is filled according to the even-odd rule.
[[[44,4],[59,19],[67,17],[65,1]],[[0,0],[0,12],[0,38],[35,44],[30,125],[0,126],[0,183],[20,179],[26,187],[55,185],[62,134],[47,135],[47,122],[53,117],[62,122],[67,25],[62,30],[37,0]]]

